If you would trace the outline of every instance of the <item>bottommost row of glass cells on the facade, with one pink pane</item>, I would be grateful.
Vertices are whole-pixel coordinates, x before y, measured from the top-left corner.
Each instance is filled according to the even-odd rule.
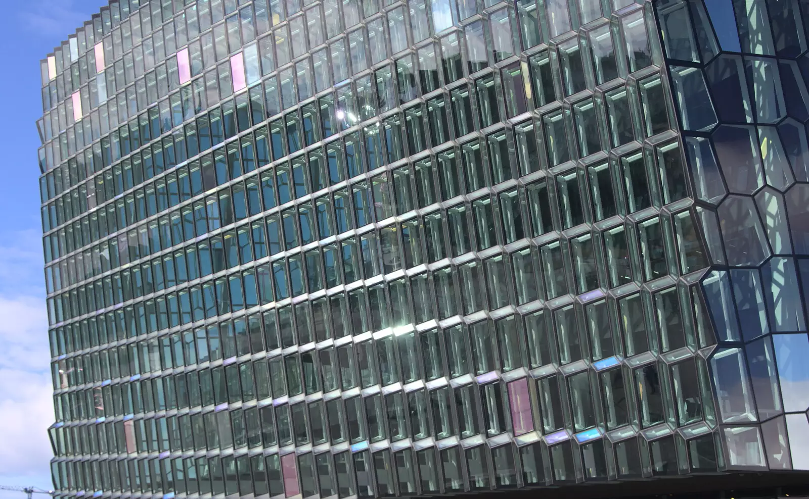
[[[604,455],[604,449],[609,453]],[[452,445],[399,451],[304,452],[166,459],[53,463],[63,489],[133,493],[255,494],[293,497],[392,497],[493,488],[576,483],[577,478],[632,479],[676,474],[678,453],[693,472],[716,470],[713,437],[686,443],[668,435],[652,442],[629,438],[611,444],[567,441],[515,448]],[[688,459],[691,459],[690,462]],[[719,457],[721,459],[721,456]],[[690,464],[689,464],[690,463]]]

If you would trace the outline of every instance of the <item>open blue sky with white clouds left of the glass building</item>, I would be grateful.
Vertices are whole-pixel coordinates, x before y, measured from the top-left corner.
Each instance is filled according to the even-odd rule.
[[[107,0],[2,2],[0,57],[0,484],[52,487],[53,422],[36,149],[40,59]],[[0,499],[22,493],[0,491]],[[35,496],[36,497],[36,496]]]

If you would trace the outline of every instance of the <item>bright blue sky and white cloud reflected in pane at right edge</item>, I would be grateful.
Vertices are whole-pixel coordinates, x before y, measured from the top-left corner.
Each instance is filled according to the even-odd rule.
[[[809,336],[806,333],[773,334],[778,379],[784,410],[805,411],[809,407]]]

